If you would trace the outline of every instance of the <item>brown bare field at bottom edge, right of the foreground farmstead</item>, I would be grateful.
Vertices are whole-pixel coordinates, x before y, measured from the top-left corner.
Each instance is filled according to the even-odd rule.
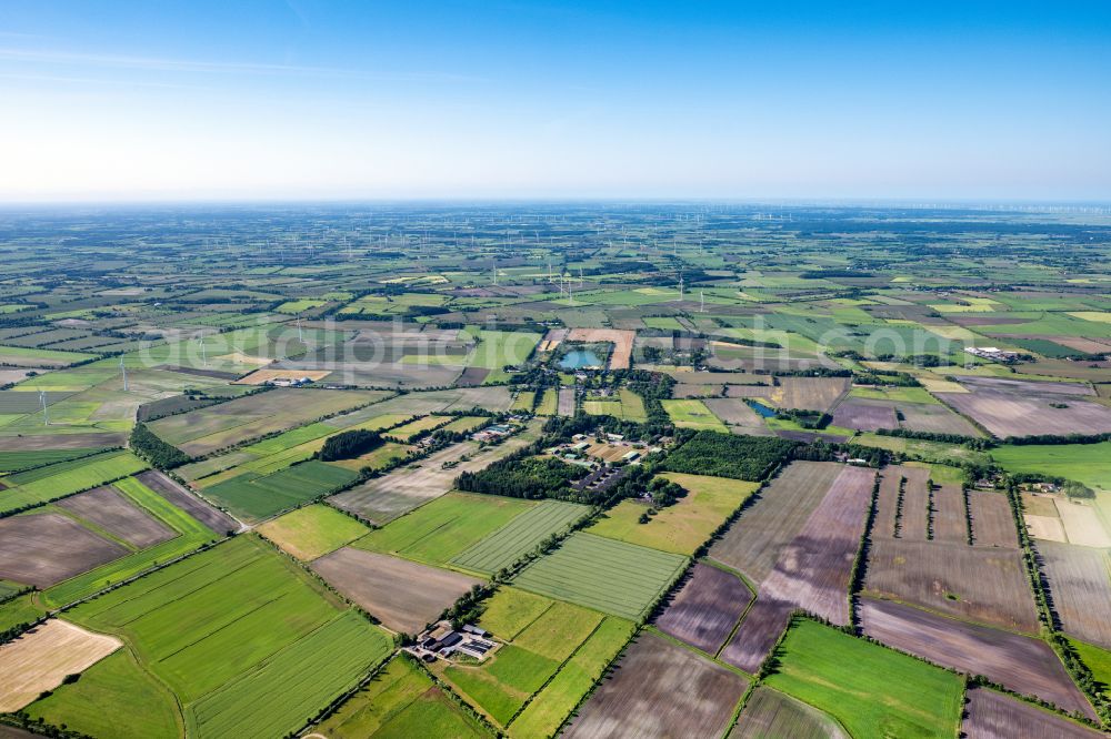
[[[563,736],[721,736],[747,687],[739,675],[659,636],[642,634]]]

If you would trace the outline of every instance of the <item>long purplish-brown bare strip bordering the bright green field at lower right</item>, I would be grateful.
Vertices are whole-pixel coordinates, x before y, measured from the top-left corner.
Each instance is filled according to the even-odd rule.
[[[895,649],[1055,703],[1067,711],[1095,712],[1041,639],[964,624],[902,604],[864,598],[864,634]]]

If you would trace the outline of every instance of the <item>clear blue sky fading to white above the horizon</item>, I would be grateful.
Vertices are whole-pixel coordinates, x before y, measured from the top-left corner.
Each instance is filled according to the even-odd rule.
[[[0,200],[1111,200],[1107,2],[0,4]]]

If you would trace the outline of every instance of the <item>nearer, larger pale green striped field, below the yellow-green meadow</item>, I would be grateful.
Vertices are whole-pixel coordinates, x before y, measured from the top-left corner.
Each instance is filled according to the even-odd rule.
[[[579,533],[513,579],[519,588],[639,621],[687,557]]]

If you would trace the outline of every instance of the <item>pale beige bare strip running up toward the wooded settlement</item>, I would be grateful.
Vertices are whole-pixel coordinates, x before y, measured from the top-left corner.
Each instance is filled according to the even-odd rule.
[[[522,432],[498,446],[488,446],[481,451],[477,442],[460,442],[414,465],[398,467],[387,475],[333,495],[328,498],[328,503],[378,526],[384,526],[450,490],[460,474],[483,469],[528,445],[530,441],[530,434]],[[461,460],[464,456],[468,458]]]

